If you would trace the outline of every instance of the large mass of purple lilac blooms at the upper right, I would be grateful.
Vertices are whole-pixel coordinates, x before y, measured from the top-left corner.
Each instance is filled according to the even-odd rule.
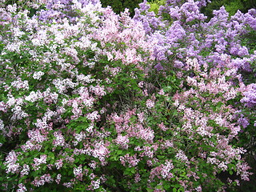
[[[146,2],[140,4],[134,19],[144,23],[150,23],[153,16],[148,16]],[[170,58],[178,58],[174,62],[176,68],[184,67],[186,57],[196,57],[204,62],[220,63],[221,54],[231,54],[235,58],[231,62],[234,66],[245,71],[251,71],[250,63],[254,61],[255,53],[249,54],[246,46],[241,46],[242,35],[249,33],[247,26],[254,30],[255,10],[249,10],[229,18],[229,14],[222,6],[220,10],[214,10],[214,18],[210,22],[204,22],[206,17],[200,13],[200,8],[206,6],[206,1],[167,1],[166,6],[161,6],[159,15],[169,14],[173,21],[163,20],[162,17],[153,17],[158,20],[164,28],[145,24],[144,28],[150,34],[150,41],[154,42],[154,57],[158,61],[170,61]],[[205,36],[203,36],[205,34]],[[200,43],[201,42],[201,43]],[[185,47],[186,46],[186,47]],[[201,53],[208,51],[205,58]],[[157,70],[166,69],[158,64]]]

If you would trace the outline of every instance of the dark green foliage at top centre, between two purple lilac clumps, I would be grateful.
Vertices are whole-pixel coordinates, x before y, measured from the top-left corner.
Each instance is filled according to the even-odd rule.
[[[101,0],[102,6],[111,6],[116,14],[124,11],[126,8],[130,10],[130,16],[134,16],[134,9],[138,7],[138,4],[143,0]]]

